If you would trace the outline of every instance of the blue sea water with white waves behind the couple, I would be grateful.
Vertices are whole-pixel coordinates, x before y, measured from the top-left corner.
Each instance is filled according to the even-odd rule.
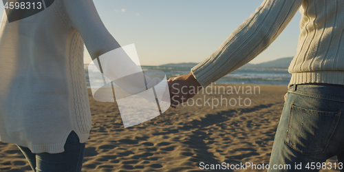
[[[85,65],[85,74],[87,86],[89,86],[89,75],[94,71],[88,71],[88,65]],[[142,66],[142,69],[159,69],[165,72],[167,78],[180,76],[190,72],[189,67],[157,67]],[[241,67],[235,72],[227,74],[215,83],[230,84],[252,84],[252,85],[288,85],[290,77],[286,68],[270,68],[270,67]],[[99,85],[103,84],[103,80],[98,80]]]

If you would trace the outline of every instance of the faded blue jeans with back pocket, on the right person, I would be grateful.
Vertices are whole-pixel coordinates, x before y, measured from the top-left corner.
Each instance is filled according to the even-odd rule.
[[[344,169],[344,86],[292,85],[286,94],[268,171]],[[325,164],[337,155],[337,164]]]

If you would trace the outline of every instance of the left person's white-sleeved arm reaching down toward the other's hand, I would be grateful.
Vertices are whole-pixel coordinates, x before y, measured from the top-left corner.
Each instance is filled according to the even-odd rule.
[[[65,0],[64,4],[70,24],[80,33],[92,60],[97,65],[101,62],[100,69],[107,78],[129,94],[138,94],[160,83],[158,78],[143,80],[141,69],[107,31],[92,0]]]

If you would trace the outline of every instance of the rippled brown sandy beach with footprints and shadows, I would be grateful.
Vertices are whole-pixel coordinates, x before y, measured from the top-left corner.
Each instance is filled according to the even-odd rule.
[[[89,90],[92,130],[83,171],[186,172],[211,171],[200,169],[201,162],[268,164],[287,87],[214,87],[195,96],[189,105],[170,108],[153,120],[129,128],[123,127],[116,103],[97,102]],[[334,163],[336,158],[327,162]],[[0,142],[0,171],[31,169],[14,144]]]

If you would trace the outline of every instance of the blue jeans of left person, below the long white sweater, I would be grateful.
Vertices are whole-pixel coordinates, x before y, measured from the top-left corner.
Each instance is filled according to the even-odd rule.
[[[18,147],[35,172],[81,171],[83,165],[85,143],[79,142],[79,138],[74,131],[69,134],[63,153],[32,153],[27,147]]]

